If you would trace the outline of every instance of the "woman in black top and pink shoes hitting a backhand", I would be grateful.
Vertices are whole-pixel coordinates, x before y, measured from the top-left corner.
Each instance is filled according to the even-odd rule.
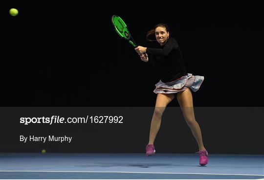
[[[160,48],[138,46],[135,51],[140,59],[151,63],[159,68],[161,78],[155,84],[154,93],[157,94],[153,118],[151,121],[149,143],[146,146],[146,156],[155,153],[154,140],[159,130],[161,117],[166,106],[176,97],[181,107],[184,119],[197,140],[199,147],[200,165],[208,163],[208,153],[202,142],[200,127],[195,120],[192,92],[196,92],[202,81],[202,76],[193,76],[186,72],[180,48],[175,39],[170,37],[167,24],[157,24],[154,29],[148,32],[149,36],[155,35]],[[154,41],[154,40],[151,40]]]

